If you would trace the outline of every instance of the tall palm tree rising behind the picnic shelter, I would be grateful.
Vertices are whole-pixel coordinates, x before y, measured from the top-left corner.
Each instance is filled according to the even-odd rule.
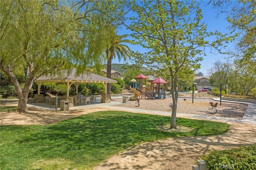
[[[111,78],[111,65],[112,65],[112,59],[116,56],[118,57],[118,60],[120,61],[121,58],[124,59],[124,61],[128,61],[130,59],[130,48],[123,44],[123,43],[129,43],[130,40],[124,39],[128,35],[122,35],[118,36],[115,34],[114,38],[111,39],[110,45],[108,48],[106,48],[106,58],[108,59],[107,62],[107,77]],[[107,83],[107,95],[111,94],[111,83]]]

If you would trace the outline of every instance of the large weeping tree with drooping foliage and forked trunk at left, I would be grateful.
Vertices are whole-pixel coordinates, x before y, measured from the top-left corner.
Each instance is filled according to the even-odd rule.
[[[33,82],[62,69],[101,64],[106,39],[114,29],[97,10],[99,2],[1,1],[0,68],[10,78],[19,97],[18,111],[26,112]],[[24,89],[16,78],[28,68]],[[87,70],[89,71],[89,70]]]

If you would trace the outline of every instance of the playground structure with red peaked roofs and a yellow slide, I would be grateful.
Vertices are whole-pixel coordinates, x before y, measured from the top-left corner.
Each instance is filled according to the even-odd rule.
[[[137,80],[139,80],[139,83]],[[148,77],[140,74],[130,81],[130,90],[134,92],[134,96],[130,97],[130,100],[138,99],[165,99],[166,84],[161,77],[150,82],[150,87],[146,87],[146,79]]]

